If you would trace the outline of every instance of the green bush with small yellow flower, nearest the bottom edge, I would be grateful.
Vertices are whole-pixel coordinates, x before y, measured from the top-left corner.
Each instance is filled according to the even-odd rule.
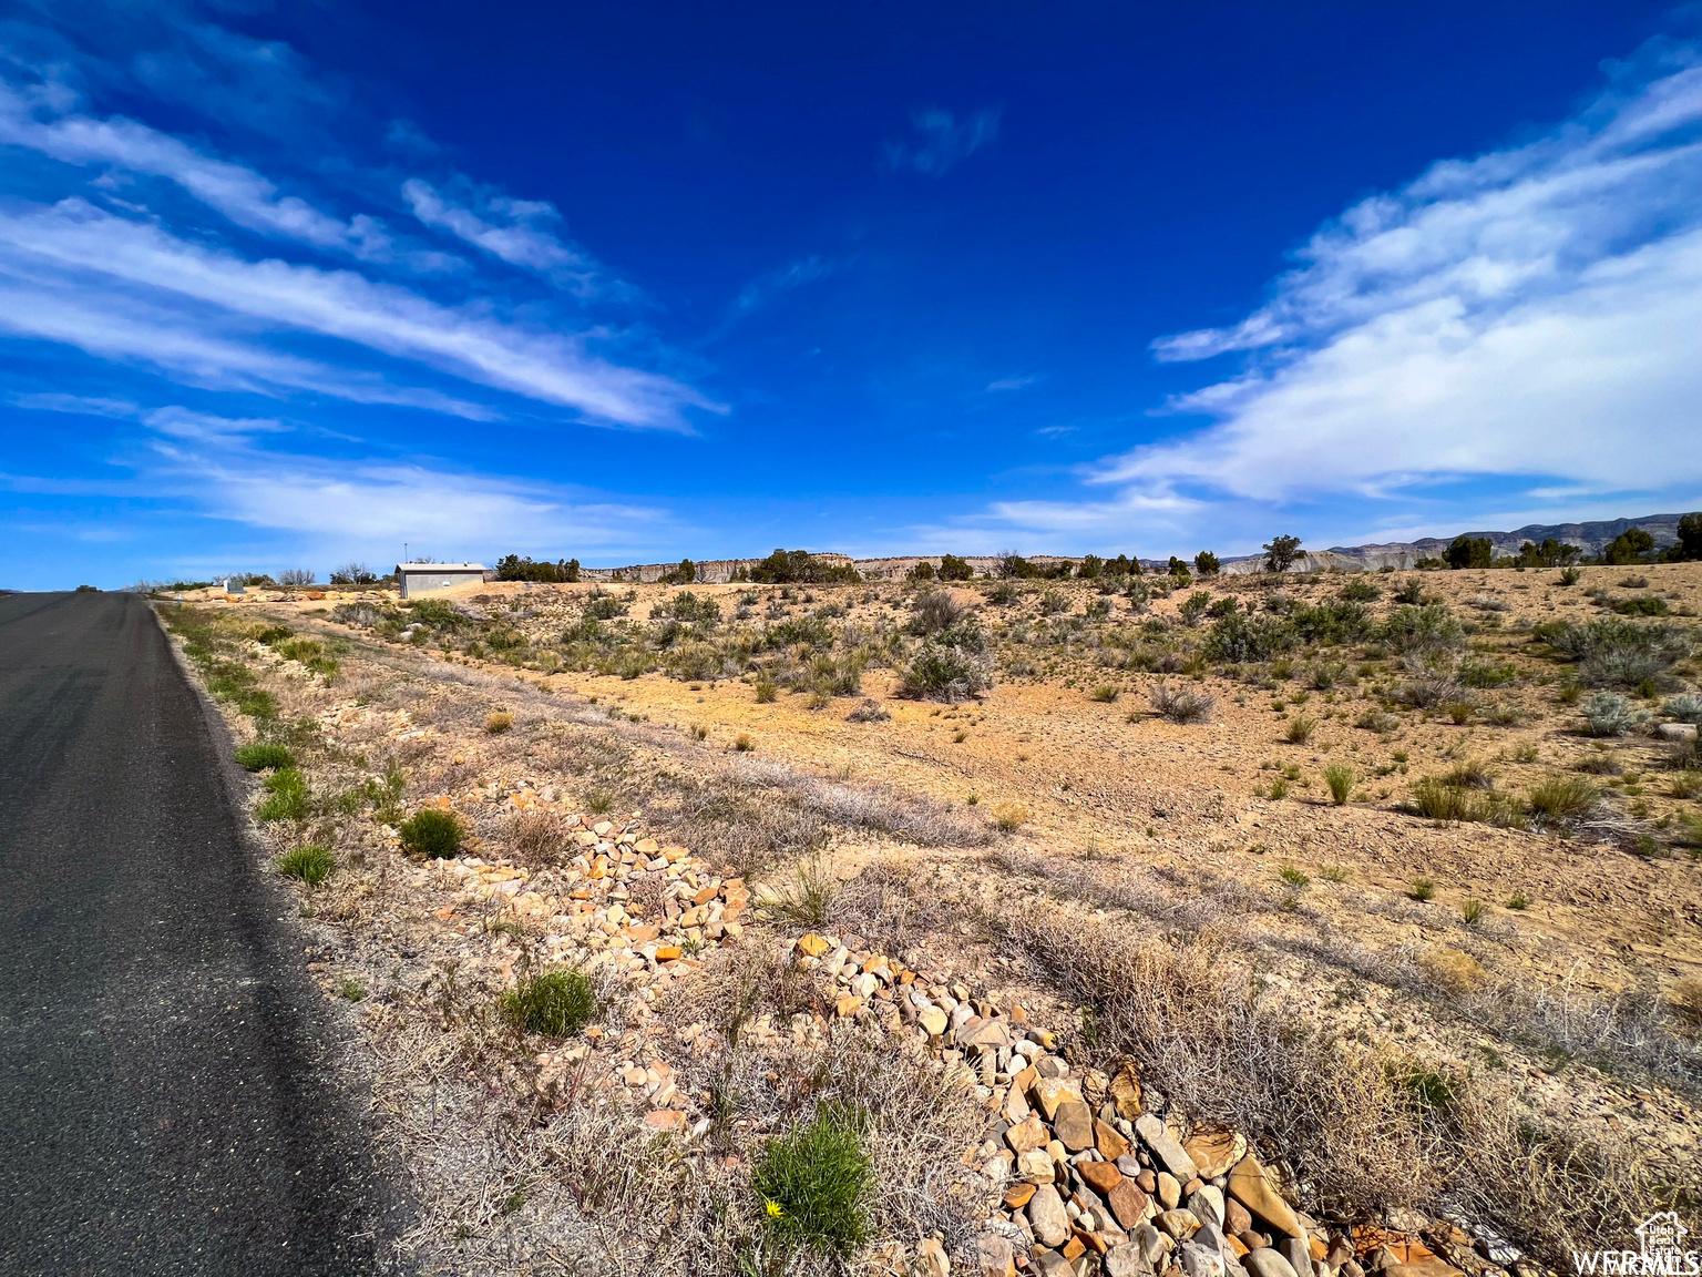
[[[854,1108],[824,1103],[808,1125],[762,1146],[752,1187],[781,1246],[842,1258],[868,1240],[875,1171],[863,1149],[863,1120]]]

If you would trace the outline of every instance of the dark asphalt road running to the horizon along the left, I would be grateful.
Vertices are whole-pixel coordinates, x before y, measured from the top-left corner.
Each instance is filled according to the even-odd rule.
[[[390,1270],[225,751],[140,598],[0,596],[0,1274]]]

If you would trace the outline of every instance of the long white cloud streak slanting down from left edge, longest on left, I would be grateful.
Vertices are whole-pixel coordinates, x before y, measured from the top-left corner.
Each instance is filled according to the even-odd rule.
[[[400,392],[381,381],[260,344],[267,334],[296,330],[570,407],[603,424],[688,431],[684,405],[718,410],[672,378],[591,354],[579,335],[444,306],[352,271],[250,262],[82,199],[0,209],[0,296],[9,300],[0,327],[145,358],[208,383],[318,383],[346,398],[397,402]],[[148,312],[151,318],[143,318]],[[424,405],[436,392],[407,393]]]

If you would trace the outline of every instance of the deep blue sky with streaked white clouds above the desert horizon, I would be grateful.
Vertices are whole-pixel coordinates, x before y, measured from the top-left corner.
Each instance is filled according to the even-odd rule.
[[[1695,7],[0,9],[0,584],[1702,504]]]

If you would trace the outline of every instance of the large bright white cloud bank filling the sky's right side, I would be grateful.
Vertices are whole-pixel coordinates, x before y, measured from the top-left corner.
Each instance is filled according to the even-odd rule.
[[[1215,426],[1091,478],[1278,504],[1702,480],[1702,66],[1649,56],[1562,128],[1353,206],[1241,324],[1156,342],[1259,354],[1169,405]]]

